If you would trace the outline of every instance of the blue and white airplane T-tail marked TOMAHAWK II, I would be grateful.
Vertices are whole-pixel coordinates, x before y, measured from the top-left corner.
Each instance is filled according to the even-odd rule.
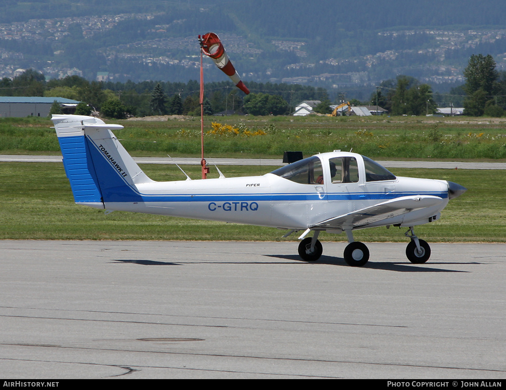
[[[152,182],[111,130],[118,124],[82,115],[53,115],[63,165],[76,203],[138,201],[136,184]]]

